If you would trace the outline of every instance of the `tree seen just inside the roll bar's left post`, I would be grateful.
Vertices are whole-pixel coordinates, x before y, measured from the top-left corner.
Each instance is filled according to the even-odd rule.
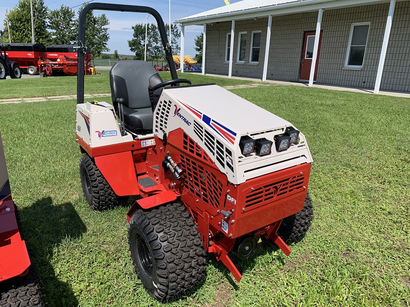
[[[78,15],[86,6],[83,4],[78,10]],[[106,14],[94,16],[92,11],[89,11],[86,16],[86,46],[90,47],[91,54],[94,57],[99,57],[101,53],[110,51],[107,47],[110,35],[108,34],[107,26],[110,24]],[[77,30],[78,33],[78,30]]]

